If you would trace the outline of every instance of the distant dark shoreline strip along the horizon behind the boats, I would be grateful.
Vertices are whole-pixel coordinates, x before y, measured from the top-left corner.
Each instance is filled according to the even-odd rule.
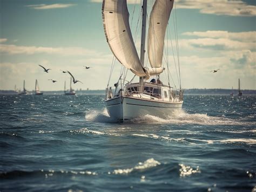
[[[256,95],[256,90],[241,90],[244,95]],[[33,94],[34,91],[28,91]],[[64,91],[42,91],[44,94],[64,94]],[[230,95],[233,92],[234,95],[238,94],[237,90],[228,90],[223,88],[190,88],[184,89],[184,94],[206,94],[206,95]],[[105,90],[78,90],[77,94],[105,94]],[[17,94],[13,90],[0,90],[0,94]]]

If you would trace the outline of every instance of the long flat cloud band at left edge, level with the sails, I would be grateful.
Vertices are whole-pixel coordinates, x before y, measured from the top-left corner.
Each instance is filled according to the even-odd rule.
[[[66,56],[85,56],[94,54],[95,51],[84,49],[83,47],[36,47],[36,46],[17,46],[0,44],[0,53],[7,54],[63,54]]]

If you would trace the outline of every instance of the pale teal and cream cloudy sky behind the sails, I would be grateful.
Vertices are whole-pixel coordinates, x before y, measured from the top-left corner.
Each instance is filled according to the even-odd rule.
[[[148,2],[150,12],[153,1]],[[139,52],[136,24],[141,1],[127,3]],[[177,52],[173,54],[170,46],[177,26],[182,88],[236,89],[240,78],[242,89],[255,90],[256,1],[177,0],[175,8],[169,19],[171,35],[165,40],[171,85],[178,86]],[[22,88],[25,80],[26,89],[32,91],[36,79],[41,91],[63,90],[70,76],[60,70],[83,82],[73,85],[75,90],[104,90],[112,59],[103,29],[102,1],[0,0],[0,90]],[[38,65],[51,70],[45,73]],[[86,70],[84,65],[91,68]],[[116,62],[110,85],[118,80],[120,68]],[[218,68],[217,73],[210,72]],[[127,79],[132,77],[129,72]],[[164,73],[160,78],[167,83]]]

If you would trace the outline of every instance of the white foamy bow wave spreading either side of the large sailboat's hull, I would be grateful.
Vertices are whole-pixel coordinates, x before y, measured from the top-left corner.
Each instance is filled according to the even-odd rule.
[[[103,111],[90,111],[85,115],[87,121],[93,122],[117,122],[107,114],[106,108]],[[197,124],[197,125],[252,125],[252,122],[228,119],[224,116],[209,116],[200,113],[186,113],[183,110],[173,112],[168,118],[160,118],[154,115],[144,115],[132,120],[130,124]]]

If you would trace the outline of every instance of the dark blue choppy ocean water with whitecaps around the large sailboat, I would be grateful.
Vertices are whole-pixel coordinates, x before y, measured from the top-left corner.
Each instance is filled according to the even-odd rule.
[[[0,191],[256,191],[255,95],[114,122],[104,95],[0,95]]]

